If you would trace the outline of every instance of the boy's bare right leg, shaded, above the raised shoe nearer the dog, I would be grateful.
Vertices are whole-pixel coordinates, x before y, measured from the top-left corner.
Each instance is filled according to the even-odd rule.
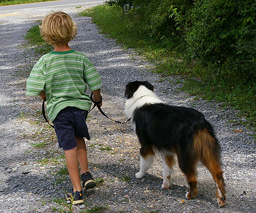
[[[76,143],[77,143],[77,159],[80,164],[80,174],[83,174],[89,171],[85,139],[83,139],[82,137],[76,136]]]

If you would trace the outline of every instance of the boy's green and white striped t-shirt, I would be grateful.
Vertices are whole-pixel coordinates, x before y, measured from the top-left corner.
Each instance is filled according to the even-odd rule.
[[[35,64],[27,79],[26,95],[38,96],[45,90],[47,112],[51,122],[65,107],[90,110],[88,94],[102,86],[101,76],[81,52],[49,52]]]

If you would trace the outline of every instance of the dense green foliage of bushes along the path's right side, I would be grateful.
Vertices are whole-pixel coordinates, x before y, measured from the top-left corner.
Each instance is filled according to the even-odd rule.
[[[126,13],[142,39],[177,48],[202,65],[223,73],[256,77],[255,0],[111,0],[133,5]]]

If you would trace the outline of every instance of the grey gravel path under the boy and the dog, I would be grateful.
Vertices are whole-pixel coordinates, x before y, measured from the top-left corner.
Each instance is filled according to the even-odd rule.
[[[152,65],[132,50],[99,34],[90,18],[77,17],[84,8],[62,8],[73,17],[78,35],[70,46],[86,53],[102,75],[102,110],[125,120],[124,87],[132,80],[148,80],[164,101],[188,106],[204,113],[216,128],[223,153],[227,205],[217,208],[214,181],[199,164],[199,195],[185,199],[188,190],[178,167],[171,190],[161,190],[162,163],[141,180],[139,144],[132,125],[116,124],[93,110],[88,117],[91,140],[87,142],[89,168],[98,182],[85,192],[85,205],[72,212],[255,212],[255,132],[239,125],[236,113],[220,104],[188,96],[179,90],[178,78],[161,78],[151,73]],[[64,195],[70,187],[63,152],[54,132],[44,122],[39,98],[26,97],[26,78],[38,60],[26,46],[24,35],[36,20],[52,8],[0,14],[0,209],[6,212],[68,212]],[[58,9],[55,9],[57,11]],[[241,130],[241,131],[240,131]],[[97,210],[98,209],[98,210]],[[71,212],[71,211],[70,211]]]

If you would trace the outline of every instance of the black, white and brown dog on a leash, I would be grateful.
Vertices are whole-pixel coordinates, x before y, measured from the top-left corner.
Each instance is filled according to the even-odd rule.
[[[165,104],[154,93],[148,81],[133,81],[126,85],[124,112],[133,123],[141,144],[141,168],[135,174],[141,179],[152,166],[156,153],[163,160],[163,189],[170,189],[170,176],[175,163],[189,184],[186,198],[198,195],[196,165],[201,161],[216,182],[217,203],[226,204],[226,190],[221,169],[220,145],[213,126],[195,109]]]

